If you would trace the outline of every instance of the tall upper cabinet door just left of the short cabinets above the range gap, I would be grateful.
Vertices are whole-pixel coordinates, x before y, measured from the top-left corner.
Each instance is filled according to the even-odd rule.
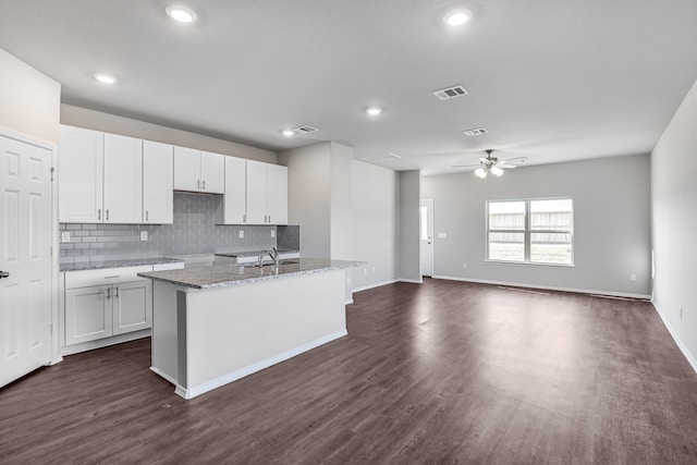
[[[143,140],[143,222],[172,224],[173,147],[150,140]]]

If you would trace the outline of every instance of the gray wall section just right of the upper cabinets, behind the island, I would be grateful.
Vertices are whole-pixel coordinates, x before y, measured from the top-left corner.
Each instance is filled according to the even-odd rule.
[[[289,222],[303,230],[306,257],[331,256],[331,144],[315,144],[279,154],[288,167]]]

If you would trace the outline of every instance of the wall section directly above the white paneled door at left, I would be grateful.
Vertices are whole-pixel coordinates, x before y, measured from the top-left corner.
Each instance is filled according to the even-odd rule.
[[[61,85],[0,49],[0,127],[58,145]]]

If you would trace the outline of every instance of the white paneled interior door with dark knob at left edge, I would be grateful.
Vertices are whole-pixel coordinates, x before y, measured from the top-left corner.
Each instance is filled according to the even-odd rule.
[[[0,387],[51,358],[51,151],[0,136]]]

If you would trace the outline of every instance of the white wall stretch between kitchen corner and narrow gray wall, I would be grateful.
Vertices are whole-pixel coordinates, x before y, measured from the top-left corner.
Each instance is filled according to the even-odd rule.
[[[353,161],[353,258],[367,261],[354,270],[354,289],[396,280],[396,179],[387,168]]]

